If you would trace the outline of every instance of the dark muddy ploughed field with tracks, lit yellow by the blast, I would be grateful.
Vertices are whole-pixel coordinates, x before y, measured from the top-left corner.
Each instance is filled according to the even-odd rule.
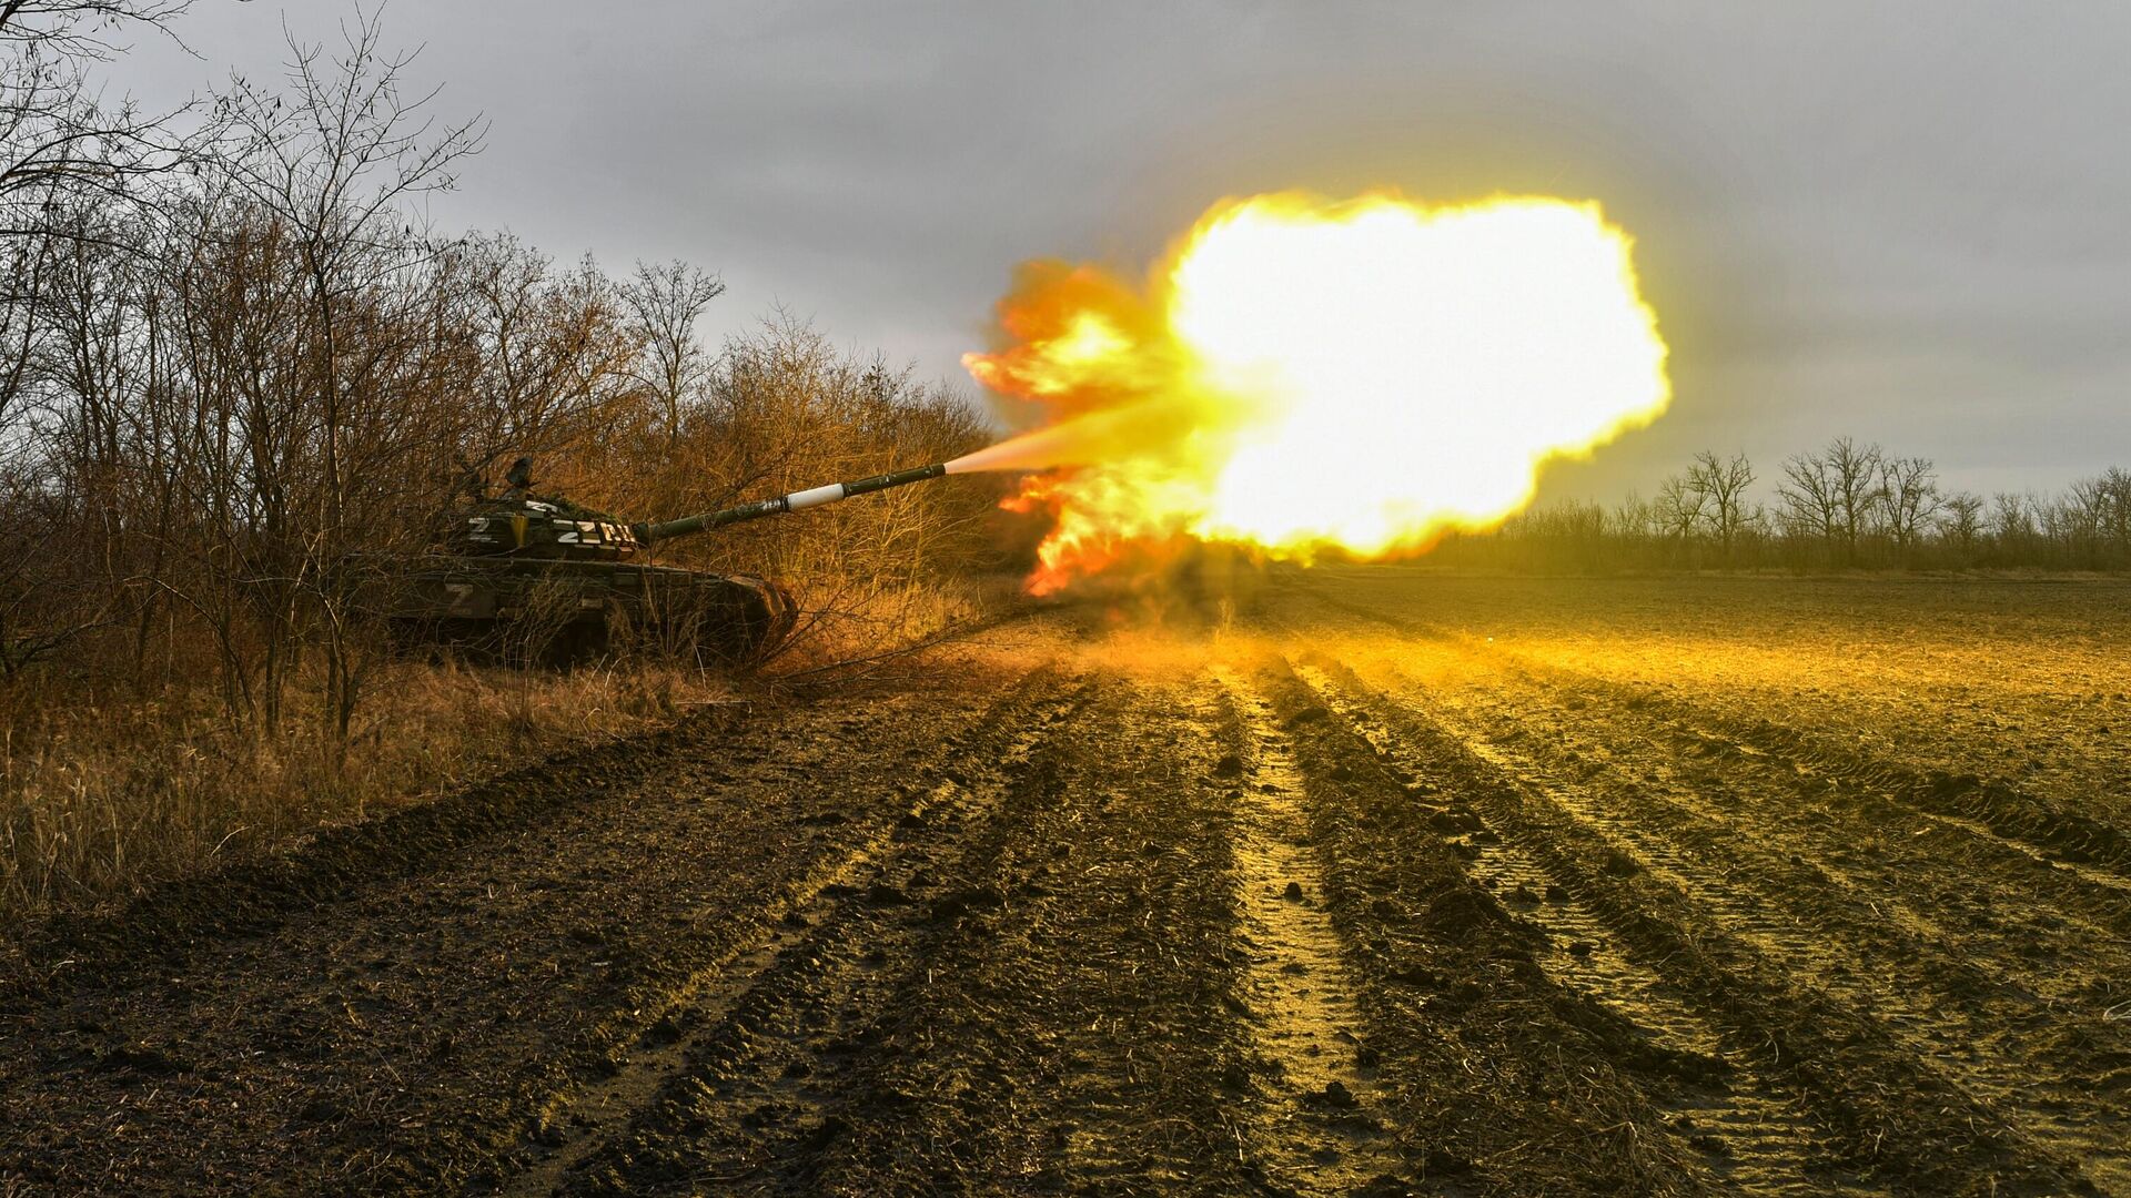
[[[2131,586],[1217,612],[34,927],[0,1194],[2131,1194]]]

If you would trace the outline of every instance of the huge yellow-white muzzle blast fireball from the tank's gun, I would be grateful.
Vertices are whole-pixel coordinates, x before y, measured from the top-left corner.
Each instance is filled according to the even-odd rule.
[[[1669,405],[1630,247],[1558,198],[1230,200],[1146,301],[1085,266],[1025,277],[1012,343],[967,365],[1051,426],[972,467],[1078,467],[1025,495],[1059,516],[1051,584],[1159,535],[1381,556],[1490,527],[1549,458]]]

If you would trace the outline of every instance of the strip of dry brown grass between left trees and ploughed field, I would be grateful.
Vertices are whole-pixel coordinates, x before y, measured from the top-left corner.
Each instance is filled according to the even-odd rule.
[[[844,674],[837,663],[933,640],[1012,593],[1004,576],[872,595],[808,586],[801,603],[823,614],[763,676],[744,680],[658,659],[571,674],[396,661],[371,684],[339,763],[315,718],[315,671],[298,678],[286,727],[271,738],[234,727],[205,676],[151,699],[26,676],[0,691],[0,927],[124,900],[324,825],[639,735],[695,703]]]

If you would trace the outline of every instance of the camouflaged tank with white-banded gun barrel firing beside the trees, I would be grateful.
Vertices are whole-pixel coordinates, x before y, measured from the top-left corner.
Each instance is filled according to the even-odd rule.
[[[469,486],[467,499],[443,514],[437,548],[394,571],[394,640],[450,644],[514,665],[573,665],[622,644],[739,665],[761,661],[797,625],[791,593],[767,578],[652,565],[650,546],[942,473],[942,465],[916,467],[629,524],[535,495],[533,465],[520,458],[501,497]]]

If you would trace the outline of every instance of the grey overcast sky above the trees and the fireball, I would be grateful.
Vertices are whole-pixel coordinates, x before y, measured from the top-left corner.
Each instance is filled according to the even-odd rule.
[[[198,0],[149,102],[271,77],[339,0]],[[1138,275],[1279,188],[1603,200],[1637,237],[1677,403],[1549,490],[1645,492],[1698,448],[1835,433],[1952,484],[2131,465],[2131,9],[2112,4],[396,0],[486,151],[433,200],[612,271],[722,273],[974,390],[1021,258]]]

